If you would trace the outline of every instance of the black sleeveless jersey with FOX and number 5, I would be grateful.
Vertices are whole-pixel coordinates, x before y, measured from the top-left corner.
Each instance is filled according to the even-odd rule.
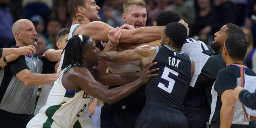
[[[188,54],[174,52],[170,46],[156,47],[157,62],[153,68],[160,68],[154,73],[158,76],[150,78],[146,85],[146,100],[160,102],[183,110],[183,101],[191,81],[191,60]]]

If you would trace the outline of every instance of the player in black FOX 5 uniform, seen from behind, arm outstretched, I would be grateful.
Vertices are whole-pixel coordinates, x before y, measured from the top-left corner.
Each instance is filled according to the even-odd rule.
[[[159,47],[140,46],[123,52],[100,52],[100,58],[110,62],[141,60],[143,65],[158,62],[154,67],[160,68],[157,72],[160,75],[150,79],[146,86],[146,105],[136,122],[136,128],[187,127],[182,103],[194,74],[194,62],[188,54],[181,52],[186,37],[186,27],[173,22],[162,31]]]

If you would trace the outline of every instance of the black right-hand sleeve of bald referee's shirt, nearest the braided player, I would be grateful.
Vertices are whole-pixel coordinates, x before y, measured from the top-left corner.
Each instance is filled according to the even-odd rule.
[[[55,64],[57,64],[57,62],[50,62],[49,60],[46,59],[45,56],[38,56],[38,58],[43,62],[42,74],[55,73],[54,67],[55,67]]]

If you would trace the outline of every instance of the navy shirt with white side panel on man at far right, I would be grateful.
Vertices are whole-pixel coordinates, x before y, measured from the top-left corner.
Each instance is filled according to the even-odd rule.
[[[256,74],[249,68],[244,68],[245,74],[249,76],[256,76]],[[241,85],[240,67],[236,65],[230,65],[223,68],[218,72],[216,81],[212,86],[212,109],[210,115],[210,124],[220,123],[220,109],[222,106],[221,94],[230,89],[234,89],[236,86]],[[231,108],[230,108],[231,109]],[[248,125],[249,122],[244,120],[244,113],[239,100],[236,100],[234,106],[234,116],[232,124]]]

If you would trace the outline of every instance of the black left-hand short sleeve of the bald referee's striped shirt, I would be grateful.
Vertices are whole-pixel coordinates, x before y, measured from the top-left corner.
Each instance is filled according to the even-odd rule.
[[[21,55],[18,59],[12,61],[9,65],[10,65],[10,69],[12,71],[12,74],[14,74],[15,76],[21,70],[24,70],[24,69],[30,70],[28,68],[28,65],[27,65],[27,62],[25,60],[24,55]]]

